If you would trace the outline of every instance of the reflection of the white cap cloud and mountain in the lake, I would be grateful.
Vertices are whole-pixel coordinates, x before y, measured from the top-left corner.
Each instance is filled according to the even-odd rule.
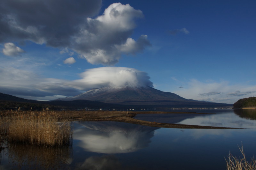
[[[158,128],[123,122],[78,122],[73,139],[85,151],[128,153],[145,148]]]

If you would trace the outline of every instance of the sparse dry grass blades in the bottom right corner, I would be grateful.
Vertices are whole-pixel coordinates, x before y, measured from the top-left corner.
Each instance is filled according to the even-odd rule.
[[[256,170],[256,159],[251,158],[251,161],[248,162],[245,159],[243,145],[239,147],[240,152],[242,153],[243,158],[237,158],[229,152],[228,159],[225,158],[227,162],[227,170]]]

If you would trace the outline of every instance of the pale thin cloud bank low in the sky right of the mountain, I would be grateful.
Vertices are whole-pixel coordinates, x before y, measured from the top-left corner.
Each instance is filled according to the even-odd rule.
[[[179,80],[175,81],[180,83]],[[241,96],[247,98],[256,95],[255,85],[230,85],[228,81],[201,82],[196,79],[183,82],[183,84],[184,88],[172,92],[186,99],[232,104],[241,99]]]

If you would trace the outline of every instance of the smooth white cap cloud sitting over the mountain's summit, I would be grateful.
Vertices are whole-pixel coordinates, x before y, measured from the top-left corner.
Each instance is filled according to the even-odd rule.
[[[70,87],[88,90],[96,87],[153,87],[146,72],[127,67],[100,67],[81,73],[82,79],[74,80]],[[74,86],[75,85],[75,86]]]

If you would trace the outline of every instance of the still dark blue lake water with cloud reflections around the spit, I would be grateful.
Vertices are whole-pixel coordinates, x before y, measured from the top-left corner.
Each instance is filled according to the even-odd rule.
[[[74,122],[72,147],[10,146],[0,169],[226,169],[229,151],[256,156],[256,110],[216,114],[139,114],[153,122],[244,129],[168,129],[123,122]],[[198,110],[196,110],[198,112]],[[206,112],[206,111],[202,111]]]

